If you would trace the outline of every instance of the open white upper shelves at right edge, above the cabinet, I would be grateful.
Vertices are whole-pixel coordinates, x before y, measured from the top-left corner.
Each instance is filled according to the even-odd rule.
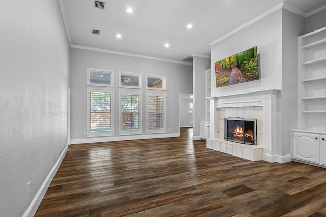
[[[326,27],[298,37],[298,129],[326,130],[325,45]]]

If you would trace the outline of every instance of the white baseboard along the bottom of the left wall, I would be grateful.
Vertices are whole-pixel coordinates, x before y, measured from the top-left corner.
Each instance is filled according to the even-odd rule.
[[[56,172],[63,160],[63,158],[65,157],[66,153],[68,151],[68,145],[65,147],[65,149],[62,151],[60,157],[58,158],[56,164],[52,167],[50,173],[47,175],[46,179],[44,180],[41,188],[39,189],[39,191],[37,192],[37,194],[35,195],[32,203],[30,204],[29,208],[25,211],[23,217],[32,217],[35,215],[39,205],[41,204],[41,201],[53,179],[53,177],[56,175]]]

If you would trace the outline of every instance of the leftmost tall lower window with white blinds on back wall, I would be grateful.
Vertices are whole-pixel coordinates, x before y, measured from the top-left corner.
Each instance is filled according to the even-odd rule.
[[[113,90],[88,88],[87,136],[113,135]]]

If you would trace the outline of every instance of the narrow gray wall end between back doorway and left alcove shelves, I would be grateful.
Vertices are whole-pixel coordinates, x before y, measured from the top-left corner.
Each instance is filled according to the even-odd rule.
[[[200,139],[199,122],[206,121],[206,72],[210,68],[210,59],[199,56],[193,57],[193,102],[194,102],[194,122],[193,139]]]

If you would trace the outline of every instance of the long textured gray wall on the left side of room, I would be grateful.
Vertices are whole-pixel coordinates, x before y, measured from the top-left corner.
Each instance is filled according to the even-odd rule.
[[[57,0],[0,14],[0,215],[23,216],[67,147],[69,44]]]

